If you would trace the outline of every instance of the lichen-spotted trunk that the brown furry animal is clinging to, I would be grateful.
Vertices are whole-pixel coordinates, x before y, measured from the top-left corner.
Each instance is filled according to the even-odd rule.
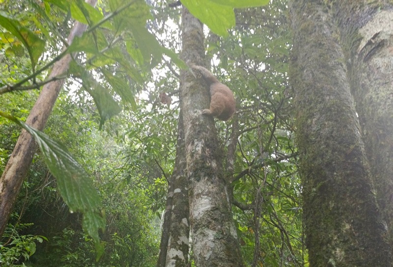
[[[202,24],[183,7],[182,58],[204,65]],[[198,76],[200,78],[200,76]],[[209,90],[190,71],[181,72],[190,223],[197,267],[242,267],[223,160],[214,120],[202,115],[209,107]]]

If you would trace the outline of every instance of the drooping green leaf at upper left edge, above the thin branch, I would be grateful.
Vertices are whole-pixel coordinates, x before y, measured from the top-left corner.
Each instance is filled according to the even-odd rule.
[[[19,21],[8,18],[2,12],[0,13],[0,26],[11,32],[26,47],[34,70],[39,57],[45,51],[45,41],[27,27],[23,27]]]

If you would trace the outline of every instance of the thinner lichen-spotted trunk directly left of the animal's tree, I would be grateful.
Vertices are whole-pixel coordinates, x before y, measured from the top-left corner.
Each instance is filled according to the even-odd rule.
[[[180,111],[177,126],[176,159],[168,185],[167,207],[157,267],[187,266],[188,264],[190,212],[183,129],[183,114]]]

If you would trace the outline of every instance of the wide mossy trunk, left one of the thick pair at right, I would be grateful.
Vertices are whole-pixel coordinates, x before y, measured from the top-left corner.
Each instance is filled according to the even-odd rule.
[[[324,3],[293,0],[290,10],[310,267],[389,267],[344,54]]]

